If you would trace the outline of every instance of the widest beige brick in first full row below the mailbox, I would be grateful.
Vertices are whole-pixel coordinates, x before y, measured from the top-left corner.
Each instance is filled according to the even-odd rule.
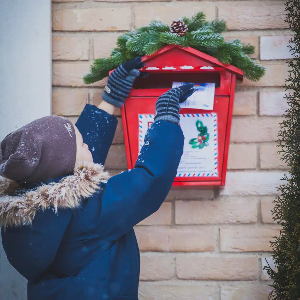
[[[176,224],[253,223],[257,220],[257,199],[219,197],[212,201],[176,201]]]

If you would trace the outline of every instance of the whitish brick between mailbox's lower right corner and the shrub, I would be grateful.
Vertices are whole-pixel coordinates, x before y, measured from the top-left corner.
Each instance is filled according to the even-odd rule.
[[[277,195],[284,172],[227,172],[223,196]]]

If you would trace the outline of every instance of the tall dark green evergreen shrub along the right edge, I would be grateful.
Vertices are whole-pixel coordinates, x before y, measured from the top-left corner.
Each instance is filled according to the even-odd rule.
[[[272,211],[274,221],[282,226],[279,237],[271,242],[277,270],[265,267],[273,283],[269,299],[300,299],[300,0],[287,0],[287,20],[294,32],[289,46],[293,59],[288,61],[289,76],[285,88],[288,109],[280,124],[279,153],[290,168],[278,190]],[[292,44],[294,43],[294,44]]]

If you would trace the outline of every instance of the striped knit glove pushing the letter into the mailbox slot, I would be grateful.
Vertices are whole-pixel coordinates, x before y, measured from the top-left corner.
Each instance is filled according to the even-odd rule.
[[[179,124],[179,103],[184,102],[195,91],[193,83],[172,88],[161,95],[155,106],[154,121],[165,120]]]

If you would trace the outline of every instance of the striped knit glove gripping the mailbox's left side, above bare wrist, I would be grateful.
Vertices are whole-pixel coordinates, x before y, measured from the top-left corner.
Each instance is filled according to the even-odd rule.
[[[134,80],[140,75],[139,69],[144,66],[141,57],[121,64],[108,78],[102,99],[115,107],[121,107],[128,97]]]

